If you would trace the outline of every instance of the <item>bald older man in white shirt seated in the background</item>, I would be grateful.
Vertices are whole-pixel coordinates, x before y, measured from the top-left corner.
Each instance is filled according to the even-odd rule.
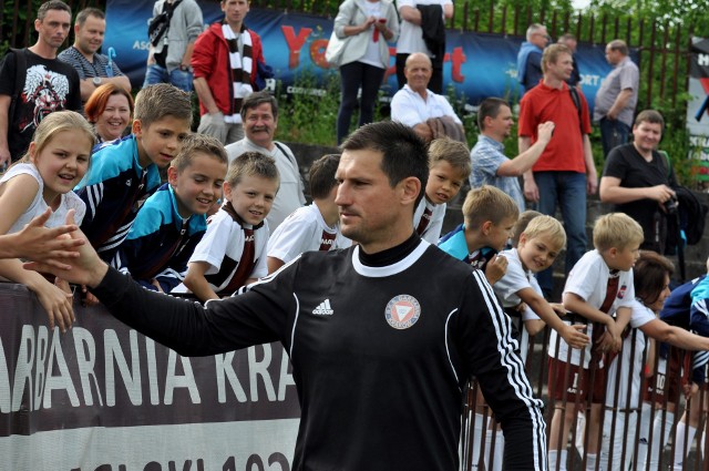
[[[428,55],[421,52],[409,55],[404,74],[407,84],[391,100],[392,121],[413,127],[427,142],[434,137],[431,127],[427,124],[431,117],[448,116],[451,123],[463,131],[463,123],[445,96],[428,89],[432,74],[431,60]]]

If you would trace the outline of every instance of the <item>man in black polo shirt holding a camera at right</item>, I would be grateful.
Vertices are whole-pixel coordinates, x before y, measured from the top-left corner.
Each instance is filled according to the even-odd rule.
[[[600,178],[600,201],[614,203],[645,233],[641,249],[665,252],[667,216],[677,211],[675,171],[666,154],[657,151],[665,120],[655,110],[635,119],[633,142],[614,147]]]

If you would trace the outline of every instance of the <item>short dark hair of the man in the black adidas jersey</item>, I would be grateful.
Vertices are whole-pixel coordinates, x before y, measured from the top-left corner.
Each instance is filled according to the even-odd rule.
[[[429,180],[429,154],[423,140],[409,126],[393,121],[366,124],[354,131],[340,145],[342,151],[371,150],[382,153],[381,170],[393,188],[410,176],[419,178],[423,197]]]

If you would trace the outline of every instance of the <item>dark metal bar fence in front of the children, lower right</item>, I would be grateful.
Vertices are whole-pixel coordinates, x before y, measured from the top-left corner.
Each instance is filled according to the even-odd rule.
[[[659,344],[654,342],[650,347],[649,337],[638,329],[630,329],[624,341],[624,350],[604,367],[609,375],[607,381],[603,382],[605,387],[596,388],[596,391],[603,391],[600,397],[592,393],[586,400],[579,397],[568,399],[567,393],[583,388],[583,382],[580,378],[573,378],[567,370],[561,373],[561,379],[569,388],[561,400],[554,400],[549,398],[548,385],[554,383],[556,378],[548,368],[548,328],[530,339],[526,371],[536,396],[545,403],[547,443],[557,442],[559,449],[567,451],[566,457],[562,453],[549,455],[551,470],[709,469],[709,462],[702,460],[701,452],[709,441],[709,436],[702,433],[709,399],[706,382],[690,399],[685,398],[685,389],[690,389],[691,385],[691,352],[676,348],[660,349]],[[566,362],[569,360],[571,356]],[[587,375],[585,387],[593,391],[600,376],[593,361]],[[470,381],[466,392],[461,439],[462,469],[504,470],[504,462],[500,462],[501,454],[495,454],[502,434],[495,432],[497,424],[494,414],[484,402],[474,379]],[[593,409],[599,412],[595,437],[590,432]],[[690,426],[697,430],[693,437],[690,437],[689,427],[685,427],[684,432],[681,428],[677,432],[680,419],[687,421],[684,419],[685,412]],[[571,421],[569,433],[564,433],[562,427],[553,432],[555,413],[557,423]],[[593,440],[599,443],[595,467],[589,464],[588,450]],[[678,447],[685,450],[685,457],[680,467],[672,468]]]

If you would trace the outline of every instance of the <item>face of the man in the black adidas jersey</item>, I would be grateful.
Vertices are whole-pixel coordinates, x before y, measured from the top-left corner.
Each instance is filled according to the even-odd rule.
[[[342,235],[358,242],[367,252],[389,239],[401,207],[381,170],[382,153],[369,149],[345,151],[335,174],[339,182],[335,203],[340,211]]]

